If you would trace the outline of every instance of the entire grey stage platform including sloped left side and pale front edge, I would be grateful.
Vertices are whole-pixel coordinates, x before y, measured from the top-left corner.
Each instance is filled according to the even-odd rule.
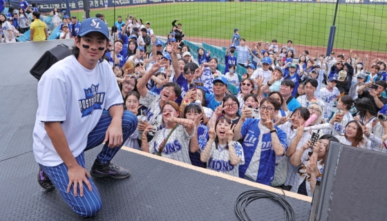
[[[57,44],[73,40],[0,44],[0,220],[238,220],[234,203],[243,191],[278,189],[199,169],[124,147],[113,162],[131,170],[126,180],[94,179],[103,209],[81,218],[57,190],[37,184],[32,128],[37,111],[37,80],[29,74],[37,59]],[[89,170],[100,151],[86,152]],[[311,198],[285,191],[296,220],[309,220]],[[247,207],[252,220],[285,220],[285,211],[271,200]]]

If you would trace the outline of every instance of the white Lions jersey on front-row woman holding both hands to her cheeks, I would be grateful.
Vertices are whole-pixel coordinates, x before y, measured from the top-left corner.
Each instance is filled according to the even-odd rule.
[[[227,144],[218,144],[218,148],[216,148],[215,142],[212,143],[207,169],[239,177],[239,165],[245,164],[243,148],[238,142],[234,141],[236,155],[240,157],[240,161],[234,166],[229,160],[229,150],[227,150],[226,147]]]

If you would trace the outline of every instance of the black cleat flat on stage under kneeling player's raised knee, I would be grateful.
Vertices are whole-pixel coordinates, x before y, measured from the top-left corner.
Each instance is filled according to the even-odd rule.
[[[108,162],[107,164],[100,164],[95,160],[91,167],[90,175],[93,177],[112,177],[114,179],[125,179],[131,175],[131,172]]]

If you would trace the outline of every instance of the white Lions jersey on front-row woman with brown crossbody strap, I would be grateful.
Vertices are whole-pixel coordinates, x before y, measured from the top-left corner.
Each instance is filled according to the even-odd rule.
[[[167,138],[172,128],[167,129],[163,128],[162,130],[155,133],[155,136],[149,142],[149,152],[156,154],[159,151],[159,148],[162,146],[162,143]],[[193,131],[193,135],[195,131]],[[189,140],[191,140],[192,135],[189,135],[185,131],[184,126],[179,125],[175,131],[169,136],[167,144],[165,144],[164,149],[162,150],[161,156],[167,157],[172,160],[178,160],[180,162],[185,162],[191,164],[189,160]]]

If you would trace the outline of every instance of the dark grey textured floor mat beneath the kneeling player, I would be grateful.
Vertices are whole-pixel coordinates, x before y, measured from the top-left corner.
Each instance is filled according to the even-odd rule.
[[[90,169],[100,148],[86,152]],[[113,160],[131,170],[126,180],[94,179],[103,209],[95,220],[237,220],[234,202],[254,187],[191,169],[120,151]],[[57,190],[45,193],[37,184],[32,153],[0,162],[0,220],[82,220]],[[297,220],[308,220],[310,203],[287,197]],[[253,220],[284,220],[284,211],[270,200],[248,207]]]

